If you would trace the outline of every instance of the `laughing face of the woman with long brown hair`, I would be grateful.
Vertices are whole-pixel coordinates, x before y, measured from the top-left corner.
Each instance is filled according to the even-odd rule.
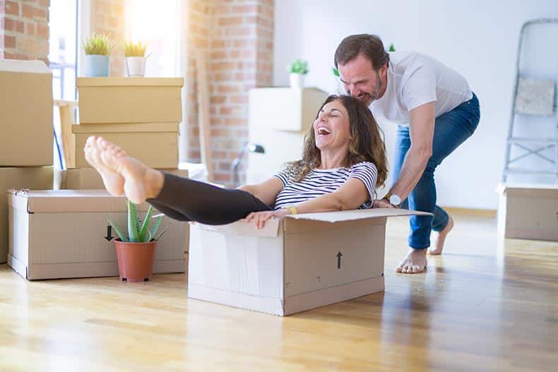
[[[326,103],[314,120],[314,137],[316,148],[337,150],[347,147],[350,142],[349,113],[338,101]]]

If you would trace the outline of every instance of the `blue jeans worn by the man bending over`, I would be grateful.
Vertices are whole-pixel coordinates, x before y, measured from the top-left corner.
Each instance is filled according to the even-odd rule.
[[[475,93],[470,100],[436,118],[432,157],[428,160],[425,172],[422,173],[417,186],[412,189],[408,198],[401,205],[401,208],[434,213],[434,217],[410,216],[409,246],[411,248],[428,248],[430,246],[430,231],[439,232],[446,227],[448,214],[436,205],[434,171],[442,160],[473,134],[479,124],[479,119],[480,107]],[[410,145],[409,127],[398,126],[395,162],[393,162],[393,182],[399,178]]]

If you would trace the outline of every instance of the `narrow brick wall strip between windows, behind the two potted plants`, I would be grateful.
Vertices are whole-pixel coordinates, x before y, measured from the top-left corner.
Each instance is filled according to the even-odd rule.
[[[110,58],[110,76],[124,76],[124,0],[91,0],[91,33],[104,33],[114,42]],[[80,43],[81,44],[81,43]]]

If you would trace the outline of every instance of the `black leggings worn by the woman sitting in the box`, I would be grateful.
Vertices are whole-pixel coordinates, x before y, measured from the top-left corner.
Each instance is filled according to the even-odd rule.
[[[273,210],[247,191],[219,188],[165,172],[163,175],[161,192],[146,201],[174,220],[230,224],[250,212]]]

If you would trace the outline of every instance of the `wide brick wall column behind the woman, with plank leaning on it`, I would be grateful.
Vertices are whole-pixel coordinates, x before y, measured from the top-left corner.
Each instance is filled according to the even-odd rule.
[[[273,80],[273,0],[191,1],[189,47],[206,49],[215,181],[232,185],[230,166],[248,140],[248,91]],[[190,54],[189,54],[190,55]],[[189,66],[194,64],[189,61]],[[194,73],[194,68],[189,69]],[[189,75],[193,80],[194,75]],[[187,157],[199,162],[196,86],[187,85]],[[244,158],[244,164],[247,157]],[[244,181],[244,167],[239,172]]]

